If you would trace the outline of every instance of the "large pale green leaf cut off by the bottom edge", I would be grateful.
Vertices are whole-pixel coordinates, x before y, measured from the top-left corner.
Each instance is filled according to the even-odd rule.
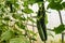
[[[27,40],[27,38],[22,35],[20,38],[11,39],[10,43],[29,43],[29,41]]]

